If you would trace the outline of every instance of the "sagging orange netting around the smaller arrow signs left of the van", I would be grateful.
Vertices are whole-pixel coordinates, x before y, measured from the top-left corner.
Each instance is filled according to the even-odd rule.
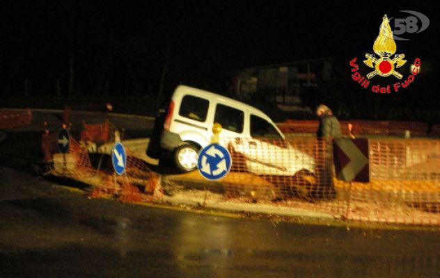
[[[123,202],[151,199],[159,184],[159,177],[140,158],[126,148],[125,172],[113,171],[109,154],[89,154],[84,144],[70,138],[69,152],[58,153],[56,134],[42,136],[42,152],[52,174],[90,184],[91,197],[118,197]]]

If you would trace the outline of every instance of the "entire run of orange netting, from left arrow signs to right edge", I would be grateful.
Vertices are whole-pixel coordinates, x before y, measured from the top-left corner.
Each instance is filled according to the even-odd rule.
[[[47,133],[42,143],[47,149],[45,157],[52,156],[52,172],[91,184],[91,197],[118,197],[123,202],[160,199],[159,175],[129,148],[126,147],[125,173],[118,176],[109,154],[88,154],[73,139],[70,152],[58,154],[54,140]],[[195,171],[165,178],[164,182],[185,179],[189,189],[202,184],[198,190],[215,191],[217,197],[204,195],[203,204],[256,202],[328,213],[347,220],[440,224],[440,140],[368,142],[368,183],[337,179],[332,140],[310,137],[221,138],[220,144],[232,157],[232,168],[221,181],[207,181]]]

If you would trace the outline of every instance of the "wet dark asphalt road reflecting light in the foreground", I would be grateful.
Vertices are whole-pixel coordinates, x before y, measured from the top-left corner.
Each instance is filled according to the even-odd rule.
[[[88,199],[31,174],[38,131],[6,134],[0,277],[440,275],[438,229],[347,229]]]

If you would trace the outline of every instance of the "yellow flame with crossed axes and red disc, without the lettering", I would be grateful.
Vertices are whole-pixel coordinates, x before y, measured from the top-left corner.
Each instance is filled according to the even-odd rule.
[[[398,79],[402,79],[402,74],[396,72],[395,69],[402,67],[402,65],[407,63],[407,60],[403,60],[405,57],[404,54],[396,54],[394,58],[391,58],[391,56],[395,54],[395,51],[397,51],[397,47],[393,40],[393,31],[391,31],[390,21],[386,15],[383,17],[379,35],[372,45],[372,50],[375,51],[375,54],[377,54],[379,58],[376,58],[375,54],[365,55],[367,60],[364,60],[363,63],[375,69],[373,72],[367,74],[368,79],[372,79],[376,75],[386,77],[391,74]]]

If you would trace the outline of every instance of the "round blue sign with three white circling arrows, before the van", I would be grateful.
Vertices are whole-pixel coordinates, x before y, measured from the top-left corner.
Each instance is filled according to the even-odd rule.
[[[231,166],[232,163],[228,149],[221,145],[207,145],[198,154],[198,172],[210,181],[217,181],[226,177]]]

